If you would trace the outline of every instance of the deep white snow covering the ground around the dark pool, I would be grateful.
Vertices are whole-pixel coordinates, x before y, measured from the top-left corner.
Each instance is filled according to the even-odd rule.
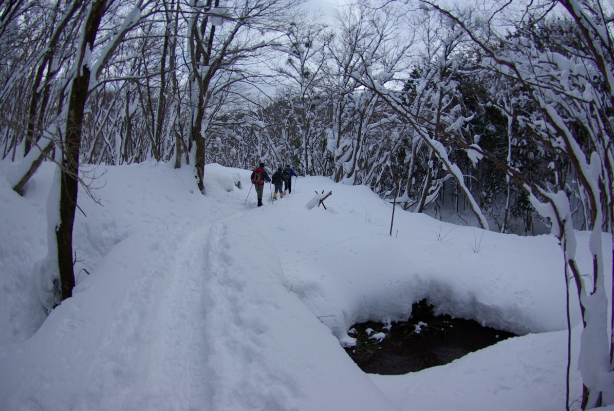
[[[0,163],[0,177],[11,167]],[[77,286],[49,316],[41,261],[53,166],[25,197],[0,178],[0,409],[564,409],[565,280],[553,237],[399,208],[391,237],[390,205],[321,177],[298,178],[274,203],[266,185],[258,208],[246,170],[207,165],[205,196],[191,167],[87,170],[99,202],[80,191]],[[322,190],[332,191],[327,209],[309,208]],[[421,372],[363,373],[343,350],[352,324],[394,327],[424,298],[522,336]],[[578,399],[575,361],[570,384]]]

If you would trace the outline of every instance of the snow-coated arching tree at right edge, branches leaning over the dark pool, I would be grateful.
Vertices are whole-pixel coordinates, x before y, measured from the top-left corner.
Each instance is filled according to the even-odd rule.
[[[612,67],[614,49],[612,37],[600,2],[586,1],[579,4],[572,0],[545,1],[529,4],[524,16],[529,23],[543,21],[551,10],[561,5],[567,10],[575,30],[576,45],[567,45],[563,52],[541,50],[533,39],[522,33],[513,41],[499,36],[491,25],[500,23],[503,12],[510,4],[497,9],[495,14],[481,20],[464,20],[449,10],[441,9],[430,1],[423,1],[454,22],[482,50],[480,65],[484,70],[515,80],[526,90],[535,111],[523,117],[532,131],[531,144],[558,156],[558,163],[569,163],[570,172],[577,181],[577,190],[584,200],[591,243],[588,252],[593,257],[589,272],[583,271],[576,257],[577,241],[572,220],[572,208],[567,192],[552,184],[549,179],[535,179],[511,167],[477,144],[463,143],[480,151],[486,159],[502,168],[530,194],[532,203],[540,214],[550,219],[552,232],[559,239],[565,260],[565,280],[575,284],[583,319],[580,350],[580,370],[584,383],[582,408],[593,409],[600,405],[614,404],[613,338],[607,334],[607,316],[611,315],[612,302],[608,303],[605,290],[604,261],[608,257],[602,251],[602,233],[614,233],[612,198],[614,194],[613,124],[606,112],[614,106]],[[517,10],[515,10],[517,11]],[[484,30],[484,22],[488,30]],[[523,22],[516,20],[516,24]],[[477,27],[480,27],[479,29]],[[570,69],[571,68],[571,69]],[[539,174],[538,174],[539,175]],[[567,278],[567,272],[571,278]],[[613,273],[608,273],[612,276]],[[612,297],[613,290],[608,294]],[[610,311],[608,313],[608,311]],[[610,361],[604,362],[604,358]],[[569,396],[569,392],[568,392]],[[569,407],[569,397],[567,399]]]

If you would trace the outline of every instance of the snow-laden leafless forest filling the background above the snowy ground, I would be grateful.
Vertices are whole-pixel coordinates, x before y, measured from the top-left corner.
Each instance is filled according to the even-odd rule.
[[[58,165],[58,301],[83,165],[169,162],[206,194],[209,163],[289,164],[413,213],[551,231],[591,342],[582,407],[611,405],[613,22],[597,0],[2,2],[0,160],[18,193]]]

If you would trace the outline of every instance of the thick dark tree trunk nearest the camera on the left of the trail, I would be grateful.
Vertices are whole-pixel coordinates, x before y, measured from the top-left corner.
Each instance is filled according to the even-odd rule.
[[[75,38],[77,47],[76,53],[66,58],[71,64],[66,67],[66,79],[63,87],[58,93],[58,119],[63,119],[64,124],[58,124],[55,134],[55,143],[60,149],[59,172],[56,174],[54,188],[52,189],[50,201],[57,198],[58,214],[48,216],[50,218],[50,230],[55,236],[56,268],[60,277],[61,299],[66,299],[72,295],[74,288],[74,261],[72,249],[72,228],[74,224],[75,211],[77,208],[77,192],[80,182],[79,164],[81,156],[82,127],[84,124],[84,112],[87,98],[90,94],[92,84],[96,82],[96,73],[109,60],[109,54],[115,49],[115,44],[120,41],[125,31],[129,30],[139,17],[133,14],[123,20],[122,29],[115,31],[114,36],[107,37],[107,42],[96,43],[96,36],[101,27],[101,22],[109,7],[114,4],[113,0],[96,0],[91,4],[85,2],[77,6],[74,18],[63,25],[62,30],[67,31],[63,37]],[[137,9],[138,10],[138,9]],[[80,18],[82,16],[83,18]],[[71,34],[72,33],[72,34]],[[79,33],[79,34],[75,34]],[[103,45],[96,49],[96,46]],[[69,50],[72,50],[69,48]],[[99,52],[96,52],[99,50]],[[66,51],[66,50],[64,50]],[[53,133],[52,133],[53,135]],[[48,146],[49,147],[49,146]],[[42,150],[44,154],[47,148]],[[42,155],[37,157],[33,165],[40,163]],[[27,157],[26,157],[27,160]],[[31,175],[33,167],[28,169]],[[23,179],[21,180],[23,182]],[[20,184],[21,184],[20,182]],[[25,184],[25,182],[23,183]],[[86,190],[87,190],[87,186]],[[53,244],[50,244],[50,251]],[[51,254],[51,252],[50,252]]]

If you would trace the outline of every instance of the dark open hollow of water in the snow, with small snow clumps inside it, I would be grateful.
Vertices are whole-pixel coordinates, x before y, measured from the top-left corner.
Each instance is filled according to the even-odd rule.
[[[416,324],[426,323],[416,332]],[[393,323],[390,331],[384,324],[354,324],[356,346],[346,348],[360,369],[369,374],[397,375],[448,364],[472,351],[515,337],[514,334],[483,327],[473,320],[434,316],[426,300],[414,303],[411,317],[404,323]],[[366,329],[385,332],[381,343],[369,339]]]

